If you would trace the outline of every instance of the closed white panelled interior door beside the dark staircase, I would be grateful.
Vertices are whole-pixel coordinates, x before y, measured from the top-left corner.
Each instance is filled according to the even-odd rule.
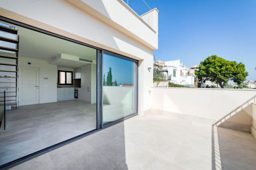
[[[38,68],[19,67],[19,105],[39,103]]]

